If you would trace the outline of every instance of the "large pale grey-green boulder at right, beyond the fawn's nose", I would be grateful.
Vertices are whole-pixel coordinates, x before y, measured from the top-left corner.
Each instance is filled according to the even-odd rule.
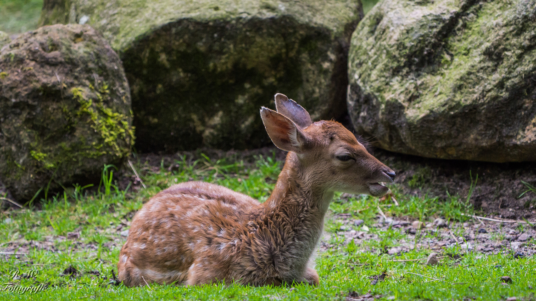
[[[536,1],[383,0],[349,51],[355,129],[389,151],[536,160]]]

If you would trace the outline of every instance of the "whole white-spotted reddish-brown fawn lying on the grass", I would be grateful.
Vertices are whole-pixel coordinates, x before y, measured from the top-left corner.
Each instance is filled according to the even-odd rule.
[[[273,143],[288,151],[263,204],[226,187],[187,182],[151,198],[132,220],[119,279],[156,283],[318,284],[312,268],[333,192],[384,195],[394,172],[334,121],[276,94],[277,112],[260,115]]]

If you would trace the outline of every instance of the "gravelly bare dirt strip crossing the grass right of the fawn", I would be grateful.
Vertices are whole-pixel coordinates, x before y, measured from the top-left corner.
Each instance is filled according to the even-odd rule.
[[[411,219],[384,219],[377,217],[377,222],[364,231],[362,220],[352,219],[350,215],[334,215],[334,219],[343,224],[337,235],[344,237],[346,242],[354,240],[356,245],[364,245],[361,252],[379,252],[389,255],[401,255],[411,250],[429,249],[433,252],[443,253],[445,248],[458,246],[463,251],[478,252],[482,254],[510,253],[514,257],[530,256],[536,253],[536,230],[528,224],[500,223],[492,221],[470,221],[465,223],[445,223],[441,219],[434,222],[425,222],[419,228],[419,221]],[[417,226],[417,227],[415,227]],[[363,244],[370,240],[379,241],[378,234],[370,234],[370,228],[386,231],[388,228],[400,229],[407,236],[398,240],[396,246],[383,250],[374,249]],[[377,232],[377,231],[375,231]],[[335,245],[326,243],[324,237],[321,250],[325,251]]]

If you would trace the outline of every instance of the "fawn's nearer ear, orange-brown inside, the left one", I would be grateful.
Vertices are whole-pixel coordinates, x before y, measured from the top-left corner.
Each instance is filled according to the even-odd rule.
[[[309,137],[287,117],[262,107],[260,117],[273,144],[283,151],[302,153]]]

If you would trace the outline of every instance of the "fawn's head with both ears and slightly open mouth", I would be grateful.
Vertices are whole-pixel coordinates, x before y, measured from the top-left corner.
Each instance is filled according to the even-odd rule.
[[[327,191],[384,195],[394,171],[370,155],[343,125],[312,122],[309,113],[283,94],[276,94],[276,111],[262,108],[260,116],[273,143],[294,152],[302,177]]]

